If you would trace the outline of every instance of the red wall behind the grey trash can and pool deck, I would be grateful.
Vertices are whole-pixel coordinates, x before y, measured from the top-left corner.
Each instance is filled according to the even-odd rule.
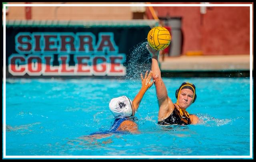
[[[182,54],[188,51],[202,51],[204,55],[250,54],[250,7],[212,6],[206,14],[200,14],[200,7],[154,9],[159,17],[168,13],[171,17],[182,17]],[[148,10],[147,15],[152,18]]]

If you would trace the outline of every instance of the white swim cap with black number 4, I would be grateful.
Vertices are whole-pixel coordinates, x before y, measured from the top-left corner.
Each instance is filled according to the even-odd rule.
[[[132,101],[126,96],[112,98],[109,109],[116,119],[132,116]]]

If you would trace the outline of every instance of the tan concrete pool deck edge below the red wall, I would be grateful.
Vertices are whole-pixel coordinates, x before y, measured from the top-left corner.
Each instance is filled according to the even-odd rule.
[[[252,56],[253,60],[253,56]],[[204,73],[204,76],[212,76],[210,73],[250,73],[250,55],[219,55],[219,56],[159,56],[160,69],[163,73],[181,74],[182,72]],[[252,62],[253,65],[253,62]],[[252,66],[253,70],[253,66]],[[226,75],[225,74],[225,75]],[[175,75],[176,76],[176,75]],[[181,75],[182,76],[182,75]],[[191,74],[191,76],[193,76]]]

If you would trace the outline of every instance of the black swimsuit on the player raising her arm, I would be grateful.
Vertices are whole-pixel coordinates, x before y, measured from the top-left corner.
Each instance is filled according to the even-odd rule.
[[[180,116],[179,110],[177,108],[174,108],[172,114],[168,116],[168,118],[157,122],[157,124],[160,125],[170,125],[170,124],[179,124],[179,125],[188,125],[191,124],[190,118],[187,118],[186,116]]]

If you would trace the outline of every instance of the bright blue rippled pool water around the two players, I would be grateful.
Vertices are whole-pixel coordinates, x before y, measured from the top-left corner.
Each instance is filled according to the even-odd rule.
[[[168,95],[182,82],[196,85],[197,100],[187,110],[201,122],[158,126],[154,85],[138,112],[140,134],[114,134],[111,98],[134,98],[140,80],[16,79],[6,82],[6,155],[250,155],[249,78],[164,78]]]

